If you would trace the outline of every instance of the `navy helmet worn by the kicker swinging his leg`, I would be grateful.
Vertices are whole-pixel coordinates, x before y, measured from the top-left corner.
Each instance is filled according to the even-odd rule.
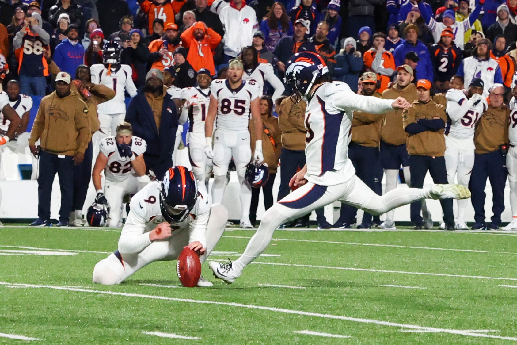
[[[314,81],[327,73],[328,67],[320,55],[312,52],[296,53],[287,61],[284,82],[302,96],[308,97]]]

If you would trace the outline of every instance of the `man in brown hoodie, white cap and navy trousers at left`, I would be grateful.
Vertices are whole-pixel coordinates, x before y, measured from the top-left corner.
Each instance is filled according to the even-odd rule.
[[[38,219],[30,226],[51,226],[50,200],[57,172],[61,208],[57,226],[68,226],[73,202],[73,166],[81,164],[90,138],[88,106],[70,90],[70,74],[59,72],[56,91],[43,97],[34,121],[29,147],[39,156]],[[39,148],[36,141],[40,139]]]

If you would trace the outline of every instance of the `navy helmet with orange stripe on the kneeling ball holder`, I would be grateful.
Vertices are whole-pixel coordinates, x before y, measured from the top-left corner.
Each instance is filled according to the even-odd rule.
[[[185,167],[172,167],[161,180],[160,209],[165,221],[184,221],[197,200],[197,183],[192,171]]]

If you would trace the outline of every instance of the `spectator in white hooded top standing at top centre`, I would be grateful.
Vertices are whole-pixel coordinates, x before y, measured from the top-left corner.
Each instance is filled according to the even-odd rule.
[[[224,27],[224,54],[229,60],[238,56],[242,48],[251,45],[258,22],[255,10],[242,0],[233,0],[230,6],[221,10],[219,18]]]

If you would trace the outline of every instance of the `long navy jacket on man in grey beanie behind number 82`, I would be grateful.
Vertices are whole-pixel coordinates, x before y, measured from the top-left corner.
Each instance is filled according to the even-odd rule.
[[[144,159],[147,158],[145,159],[147,170],[152,169],[160,178],[173,165],[172,152],[178,129],[178,114],[174,100],[169,94],[165,94],[163,98],[160,135],[143,87],[129,102],[126,121],[133,126],[134,135],[147,142],[147,151],[144,154]]]

